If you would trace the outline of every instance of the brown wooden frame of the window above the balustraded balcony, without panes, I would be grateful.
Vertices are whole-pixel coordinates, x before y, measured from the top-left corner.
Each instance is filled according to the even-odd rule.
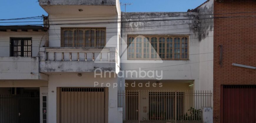
[[[72,31],[72,46],[65,46],[65,44],[64,44],[64,31],[66,31],[66,30],[71,30]],[[77,44],[75,44],[75,42],[74,42],[74,38],[75,38],[75,36],[74,36],[74,31],[75,30],[82,30],[82,34],[83,34],[83,43],[82,43],[82,46],[76,46]],[[104,27],[97,27],[97,28],[81,28],[81,27],[61,27],[61,47],[88,47],[88,44],[87,44],[87,37],[86,37],[86,31],[88,31],[89,30],[89,47],[98,47],[97,46],[97,38],[102,38],[102,37],[96,37],[96,32],[98,31],[98,30],[103,30],[103,31],[105,31],[105,33],[104,33],[104,46],[103,47],[105,47],[105,45],[106,45],[106,28],[104,28]],[[92,40],[92,33],[91,33],[91,31],[92,30],[94,30],[94,37],[93,37],[93,39],[94,39],[94,44],[92,45],[92,42],[91,42],[91,40]],[[70,38],[70,37],[69,37]],[[68,44],[69,45],[69,44]],[[99,45],[102,45],[102,44],[99,44]]]

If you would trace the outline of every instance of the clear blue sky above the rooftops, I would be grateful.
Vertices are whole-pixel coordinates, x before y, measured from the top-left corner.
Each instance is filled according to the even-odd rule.
[[[126,12],[185,12],[188,9],[196,8],[205,1],[206,0],[120,0],[122,3],[133,4],[126,7]],[[124,11],[124,6],[121,6],[121,9]],[[39,6],[37,0],[1,0],[0,11],[0,19],[34,17],[41,16],[42,14],[47,15],[44,9]],[[15,24],[37,23],[0,23],[0,25]]]

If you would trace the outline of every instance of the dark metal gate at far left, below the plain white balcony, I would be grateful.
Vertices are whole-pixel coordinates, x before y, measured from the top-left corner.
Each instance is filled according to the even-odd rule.
[[[0,95],[0,123],[40,123],[39,95]]]

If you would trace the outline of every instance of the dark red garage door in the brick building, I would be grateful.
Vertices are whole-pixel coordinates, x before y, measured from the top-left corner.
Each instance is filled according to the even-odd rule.
[[[221,87],[221,122],[256,122],[256,85]]]

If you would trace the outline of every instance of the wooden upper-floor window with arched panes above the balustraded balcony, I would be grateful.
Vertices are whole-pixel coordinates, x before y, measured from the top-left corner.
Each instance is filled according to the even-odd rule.
[[[62,47],[104,47],[106,28],[61,28]]]

